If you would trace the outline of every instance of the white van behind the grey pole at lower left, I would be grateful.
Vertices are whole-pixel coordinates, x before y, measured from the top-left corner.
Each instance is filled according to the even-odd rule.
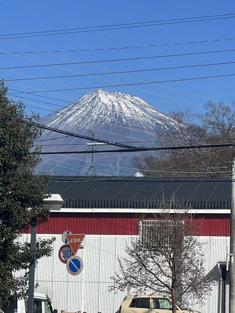
[[[21,299],[3,306],[4,313],[28,313],[28,299]],[[34,292],[34,312],[33,313],[57,313],[52,310],[50,298],[42,293]]]

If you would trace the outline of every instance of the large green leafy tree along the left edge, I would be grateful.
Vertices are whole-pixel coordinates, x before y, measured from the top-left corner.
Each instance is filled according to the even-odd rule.
[[[49,209],[42,207],[47,175],[35,175],[40,162],[40,147],[34,141],[42,129],[39,115],[26,115],[22,102],[7,97],[0,81],[0,307],[27,295],[29,264],[52,253],[54,239],[39,240],[30,253],[30,244],[20,243],[20,236],[35,219],[47,221]],[[19,276],[19,270],[24,275]],[[18,272],[18,273],[17,273]]]

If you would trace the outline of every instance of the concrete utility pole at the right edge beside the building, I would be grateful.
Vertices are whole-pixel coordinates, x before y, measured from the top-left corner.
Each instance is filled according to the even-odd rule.
[[[231,165],[232,194],[230,214],[230,283],[229,283],[229,313],[235,312],[235,157]]]

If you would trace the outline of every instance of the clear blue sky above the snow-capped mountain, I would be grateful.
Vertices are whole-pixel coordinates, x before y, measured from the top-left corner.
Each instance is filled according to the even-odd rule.
[[[235,13],[234,1],[1,1],[1,34],[37,32],[44,30],[102,26],[110,24],[136,23],[176,18],[187,18],[217,14]],[[97,32],[74,33],[66,35],[15,38],[0,40],[1,52],[52,51],[69,49],[98,49],[130,47],[139,45],[160,45],[235,38],[235,18],[193,23],[179,23],[140,28],[126,28]],[[9,36],[11,37],[11,36]],[[12,36],[14,37],[14,36]],[[2,38],[2,37],[1,37]],[[35,49],[35,50],[34,50]],[[0,54],[1,67],[27,66],[86,62],[108,59],[138,58],[166,54],[185,54],[203,51],[235,49],[235,40],[225,40],[200,44],[183,44],[154,48],[118,49],[106,51],[66,52],[53,54]],[[191,56],[160,59],[131,60],[125,62],[106,62],[97,64],[63,65],[60,67],[41,67],[0,70],[5,80],[29,77],[48,77],[61,75],[105,73],[153,69],[162,67],[188,66],[198,64],[235,61],[235,52],[198,54]],[[62,69],[63,68],[63,69]],[[100,87],[105,85],[132,84],[162,80],[235,74],[235,64],[205,66],[198,68],[170,69],[130,74],[108,74],[92,77],[56,78],[45,80],[20,80],[5,84],[15,90],[31,92],[37,90],[57,90],[68,88]],[[191,108],[202,112],[208,99],[232,103],[235,76],[168,82],[153,85],[118,86],[103,88],[137,95],[159,110]],[[94,88],[95,89],[95,88]],[[92,90],[55,91],[38,93],[65,101],[74,101]],[[13,92],[13,91],[12,91]],[[67,105],[58,100],[43,99],[35,95],[21,95],[32,100],[24,100],[27,111],[39,112],[42,116],[51,113],[56,106],[35,102],[46,101]],[[16,100],[17,95],[11,98]],[[19,98],[18,98],[19,99]],[[23,100],[23,99],[22,99]],[[28,102],[26,102],[28,101]],[[29,103],[31,102],[31,103]],[[41,107],[39,107],[41,106]]]

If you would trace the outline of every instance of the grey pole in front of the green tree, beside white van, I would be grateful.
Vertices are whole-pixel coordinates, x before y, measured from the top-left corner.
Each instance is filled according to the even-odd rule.
[[[29,264],[29,295],[28,313],[34,312],[34,276],[35,276],[35,249],[36,249],[37,218],[33,218],[31,223],[30,257]]]

